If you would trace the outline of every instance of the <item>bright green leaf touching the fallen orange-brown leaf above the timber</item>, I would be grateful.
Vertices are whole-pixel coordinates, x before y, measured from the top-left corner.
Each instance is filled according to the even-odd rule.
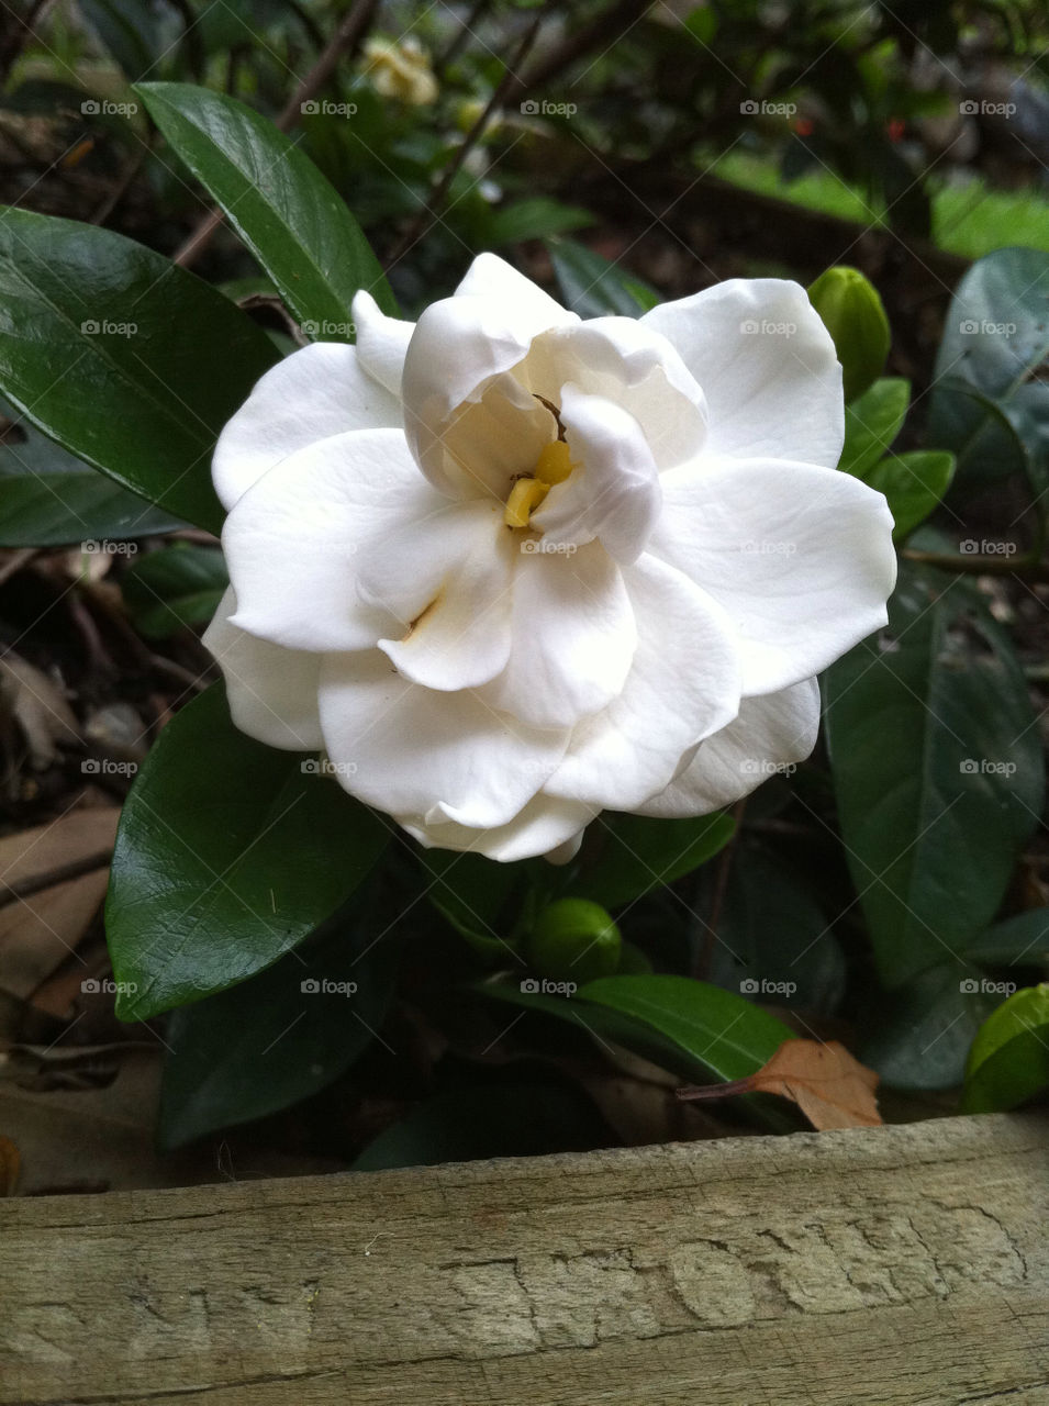
[[[686,976],[603,976],[578,1000],[641,1021],[726,1081],[757,1073],[794,1033],[741,995]]]

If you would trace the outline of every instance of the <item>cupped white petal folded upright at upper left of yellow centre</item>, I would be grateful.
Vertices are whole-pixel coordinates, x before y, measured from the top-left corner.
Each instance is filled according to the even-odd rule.
[[[578,321],[495,254],[480,254],[456,295],[426,308],[408,347],[402,391],[408,443],[437,488],[460,498],[485,491],[482,447],[475,458],[468,441],[454,458],[447,449],[460,406],[480,401],[494,377],[517,366],[540,332]],[[532,413],[529,402],[523,394]]]

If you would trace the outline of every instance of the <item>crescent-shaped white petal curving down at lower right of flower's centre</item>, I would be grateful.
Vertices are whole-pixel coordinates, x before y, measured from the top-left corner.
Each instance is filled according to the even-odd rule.
[[[724,612],[648,554],[624,572],[638,644],[623,692],[572,734],[551,796],[634,810],[697,741],[740,710],[740,665]]]

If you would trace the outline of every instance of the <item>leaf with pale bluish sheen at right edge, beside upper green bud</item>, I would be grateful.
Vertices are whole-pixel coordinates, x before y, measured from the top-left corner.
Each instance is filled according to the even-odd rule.
[[[1049,385],[1038,380],[1046,354],[1049,253],[996,249],[955,290],[937,354],[929,441],[955,451],[959,479],[996,479],[1015,465],[990,406],[1008,409],[1021,395],[1024,418],[1049,423]]]

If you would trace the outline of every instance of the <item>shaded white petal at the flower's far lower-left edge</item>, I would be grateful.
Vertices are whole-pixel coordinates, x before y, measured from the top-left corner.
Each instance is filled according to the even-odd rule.
[[[322,745],[316,704],[321,655],[256,640],[229,623],[235,610],[231,586],[204,631],[204,644],[226,681],[235,725],[269,747],[315,751]]]

